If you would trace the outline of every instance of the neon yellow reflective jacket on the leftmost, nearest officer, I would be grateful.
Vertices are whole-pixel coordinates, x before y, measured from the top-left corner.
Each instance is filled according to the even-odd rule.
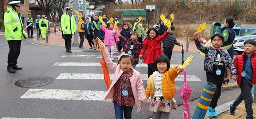
[[[7,7],[4,13],[4,27],[6,33],[6,41],[26,39],[26,32],[23,30],[23,23],[19,13],[11,7]],[[14,35],[15,38],[11,38]]]

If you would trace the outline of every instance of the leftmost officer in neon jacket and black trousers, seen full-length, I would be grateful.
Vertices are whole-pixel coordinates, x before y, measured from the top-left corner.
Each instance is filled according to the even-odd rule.
[[[17,59],[20,55],[20,44],[22,39],[26,39],[26,32],[23,30],[21,21],[20,1],[12,1],[7,7],[7,12],[4,13],[4,27],[6,33],[6,41],[9,45],[8,66],[7,71],[15,73],[15,70],[21,70],[17,66]]]

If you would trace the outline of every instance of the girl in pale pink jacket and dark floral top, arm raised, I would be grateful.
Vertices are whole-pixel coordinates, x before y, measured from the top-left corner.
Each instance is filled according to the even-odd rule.
[[[114,103],[116,119],[131,119],[134,104],[140,111],[140,102],[147,102],[140,73],[131,68],[132,57],[129,54],[119,56],[119,64],[111,61],[108,51],[103,46],[103,55],[108,69],[114,73],[113,81],[105,96],[106,102]]]

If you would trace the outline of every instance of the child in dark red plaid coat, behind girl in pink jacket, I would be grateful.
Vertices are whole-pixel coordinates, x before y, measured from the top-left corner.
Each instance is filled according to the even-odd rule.
[[[136,32],[131,32],[131,38],[126,39],[124,36],[117,34],[119,39],[125,42],[124,49],[122,52],[132,55],[133,62],[132,68],[136,68],[136,65],[139,64],[139,55],[140,55],[140,42],[137,40],[138,34]]]

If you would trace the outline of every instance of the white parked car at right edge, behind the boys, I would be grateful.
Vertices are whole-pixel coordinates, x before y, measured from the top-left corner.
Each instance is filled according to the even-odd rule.
[[[244,52],[244,41],[249,40],[249,39],[253,39],[256,41],[256,33],[254,33],[252,35],[235,38],[234,51],[238,52],[239,54],[243,53]]]

